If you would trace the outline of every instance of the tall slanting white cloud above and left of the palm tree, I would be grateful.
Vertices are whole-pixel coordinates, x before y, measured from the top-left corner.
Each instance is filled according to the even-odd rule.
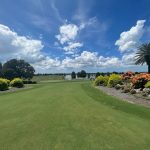
[[[121,52],[133,50],[139,43],[139,40],[144,33],[144,23],[146,20],[138,20],[136,26],[133,26],[129,31],[122,32],[120,39],[115,45],[119,46]]]

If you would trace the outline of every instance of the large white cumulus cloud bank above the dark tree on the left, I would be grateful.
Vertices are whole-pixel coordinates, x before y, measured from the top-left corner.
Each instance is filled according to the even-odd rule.
[[[60,65],[57,59],[52,59],[42,53],[44,45],[40,40],[20,36],[9,27],[0,24],[0,60],[10,58],[25,59],[35,67],[54,67]]]

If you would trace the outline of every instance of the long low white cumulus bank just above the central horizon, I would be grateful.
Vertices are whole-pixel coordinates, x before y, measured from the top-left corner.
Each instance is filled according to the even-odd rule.
[[[67,57],[62,61],[62,66],[65,68],[110,67],[119,66],[119,64],[120,60],[116,57],[103,57],[90,51],[83,51],[75,58]]]

